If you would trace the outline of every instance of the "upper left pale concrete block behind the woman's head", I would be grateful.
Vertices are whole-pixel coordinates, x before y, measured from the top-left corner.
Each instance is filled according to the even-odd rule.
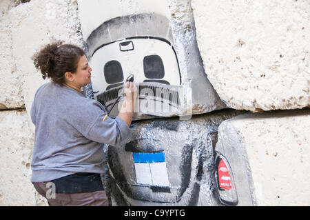
[[[32,0],[9,8],[1,21],[0,109],[30,108],[43,81],[32,55],[47,43],[63,40],[83,46],[74,0]]]

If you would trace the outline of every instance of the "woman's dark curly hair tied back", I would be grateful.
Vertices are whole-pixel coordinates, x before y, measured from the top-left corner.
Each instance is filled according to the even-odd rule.
[[[85,52],[78,46],[55,41],[36,52],[32,59],[43,79],[50,78],[55,83],[65,83],[65,72],[76,72],[80,57]]]

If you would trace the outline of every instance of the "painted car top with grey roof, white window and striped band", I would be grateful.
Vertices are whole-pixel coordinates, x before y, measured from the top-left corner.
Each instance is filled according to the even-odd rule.
[[[156,34],[149,31],[152,23],[162,24]],[[124,36],[120,28],[136,30]],[[179,112],[182,79],[167,18],[159,14],[114,18],[96,28],[86,43],[94,98],[105,107],[110,108],[121,93],[124,79],[134,74],[139,91],[135,112],[164,117]],[[168,108],[163,109],[162,103]]]

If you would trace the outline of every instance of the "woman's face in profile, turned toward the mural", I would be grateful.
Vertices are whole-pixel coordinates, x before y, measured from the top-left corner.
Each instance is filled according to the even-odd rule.
[[[80,57],[76,72],[72,74],[74,77],[74,83],[76,83],[79,87],[86,86],[91,83],[91,72],[92,68],[90,68],[86,56],[84,55],[83,57]]]

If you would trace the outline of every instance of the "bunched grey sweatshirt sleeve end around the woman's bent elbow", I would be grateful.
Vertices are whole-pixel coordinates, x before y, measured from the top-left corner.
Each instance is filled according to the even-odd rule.
[[[108,116],[105,121],[103,121],[105,114],[106,113],[103,112],[103,114],[97,117],[96,121],[94,121],[88,130],[86,137],[87,139],[99,143],[118,146],[130,135],[130,128],[118,116],[115,119]]]

